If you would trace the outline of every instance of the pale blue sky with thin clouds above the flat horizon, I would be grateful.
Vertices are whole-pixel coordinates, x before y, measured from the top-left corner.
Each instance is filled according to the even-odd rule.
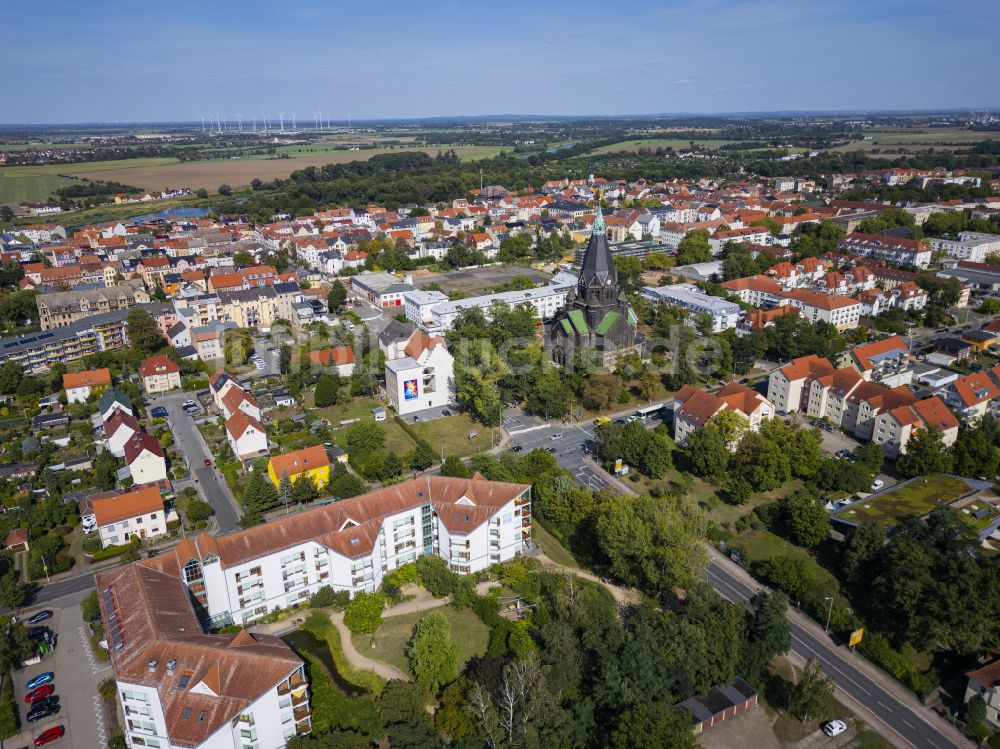
[[[1000,107],[997,0],[36,0],[0,123]]]

